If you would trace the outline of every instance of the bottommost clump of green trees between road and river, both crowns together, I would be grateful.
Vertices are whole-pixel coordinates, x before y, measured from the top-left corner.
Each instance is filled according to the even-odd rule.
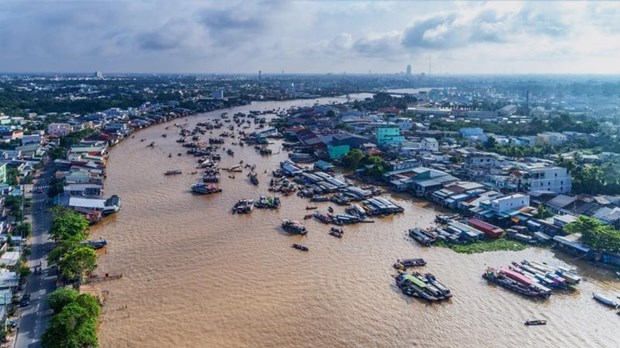
[[[59,289],[49,296],[54,315],[41,344],[45,348],[97,347],[97,320],[101,305],[88,294]]]

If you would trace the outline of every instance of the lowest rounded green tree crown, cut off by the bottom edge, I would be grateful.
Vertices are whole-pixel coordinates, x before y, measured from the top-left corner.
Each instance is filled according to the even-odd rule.
[[[44,348],[83,348],[96,347],[97,320],[78,303],[69,303],[54,315],[43,334],[41,345]]]

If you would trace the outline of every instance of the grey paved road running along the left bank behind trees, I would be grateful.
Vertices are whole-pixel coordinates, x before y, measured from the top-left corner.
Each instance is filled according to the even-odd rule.
[[[53,170],[46,166],[37,178],[40,185],[49,182]],[[51,310],[47,303],[47,296],[56,288],[56,275],[54,268],[47,267],[47,250],[52,242],[49,240],[50,216],[47,212],[47,194],[32,192],[32,236],[30,238],[32,253],[28,258],[31,269],[41,265],[42,272],[32,272],[28,276],[25,293],[30,293],[30,305],[20,308],[21,316],[18,322],[17,348],[36,348],[41,346],[41,336],[47,327]]]

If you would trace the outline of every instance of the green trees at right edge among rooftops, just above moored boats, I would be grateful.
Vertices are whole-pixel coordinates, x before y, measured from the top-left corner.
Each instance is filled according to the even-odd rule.
[[[599,251],[620,252],[620,230],[604,225],[597,219],[580,216],[564,226],[568,233],[581,233],[581,241]]]

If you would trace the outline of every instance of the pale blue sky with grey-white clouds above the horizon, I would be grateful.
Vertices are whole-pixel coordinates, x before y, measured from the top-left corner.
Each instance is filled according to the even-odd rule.
[[[619,74],[620,1],[0,0],[1,72],[407,64],[414,74]]]

